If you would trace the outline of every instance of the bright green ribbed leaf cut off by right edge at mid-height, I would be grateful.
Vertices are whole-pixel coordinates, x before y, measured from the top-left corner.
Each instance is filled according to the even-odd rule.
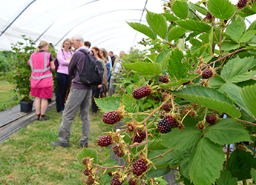
[[[243,99],[244,104],[246,107],[252,112],[252,115],[256,118],[256,84],[252,86],[243,87],[240,91],[240,95]]]

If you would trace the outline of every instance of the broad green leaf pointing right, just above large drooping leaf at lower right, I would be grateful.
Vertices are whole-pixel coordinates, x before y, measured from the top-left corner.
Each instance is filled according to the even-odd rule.
[[[216,144],[234,144],[240,141],[251,141],[251,138],[243,125],[234,119],[222,119],[214,125],[206,128],[206,138]]]

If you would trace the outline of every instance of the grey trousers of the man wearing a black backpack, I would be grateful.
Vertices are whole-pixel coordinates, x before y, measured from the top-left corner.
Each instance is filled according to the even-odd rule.
[[[70,137],[70,127],[76,112],[80,111],[80,118],[82,121],[82,139],[79,144],[89,141],[90,132],[90,104],[91,104],[91,90],[77,90],[71,88],[68,95],[68,100],[65,110],[62,115],[62,124],[59,127],[59,142],[68,144]]]

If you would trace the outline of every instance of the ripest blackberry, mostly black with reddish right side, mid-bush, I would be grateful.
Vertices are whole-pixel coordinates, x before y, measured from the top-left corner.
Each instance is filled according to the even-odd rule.
[[[171,129],[176,126],[176,120],[171,117],[171,115],[165,115],[161,121],[158,121],[157,128],[158,131],[166,134],[171,132]]]

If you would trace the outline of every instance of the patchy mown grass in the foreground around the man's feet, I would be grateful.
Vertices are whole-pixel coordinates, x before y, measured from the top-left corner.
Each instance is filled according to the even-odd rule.
[[[48,121],[35,121],[21,129],[7,141],[0,144],[0,184],[85,184],[83,172],[73,164],[76,154],[81,151],[82,123],[78,115],[73,121],[70,147],[52,147],[51,141],[58,141],[62,115],[56,110],[48,112]],[[102,132],[113,126],[104,124],[102,112],[91,116],[89,146],[98,151],[99,162],[108,158],[108,149],[96,143]]]

